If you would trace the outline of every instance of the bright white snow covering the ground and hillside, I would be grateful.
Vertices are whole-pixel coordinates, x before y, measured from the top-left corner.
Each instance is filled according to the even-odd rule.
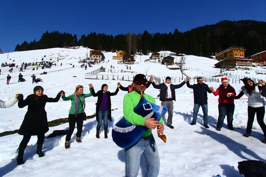
[[[116,84],[119,81],[123,86],[131,84],[131,81],[117,80],[116,78],[122,75],[124,78],[131,80],[137,73],[146,75],[154,75],[164,80],[166,76],[172,77],[173,84],[182,82],[180,70],[169,70],[165,65],[160,63],[144,62],[149,56],[136,57],[136,64],[130,65],[131,70],[126,69],[126,64],[118,64],[117,60],[112,57],[116,53],[104,53],[105,61],[93,65],[91,68],[81,68],[79,59],[85,58],[90,49],[46,49],[25,52],[13,52],[0,54],[0,61],[18,64],[20,67],[22,62],[55,61],[56,67],[51,69],[38,69],[32,71],[33,67],[28,67],[21,72],[26,79],[26,82],[17,82],[19,67],[14,68],[13,73],[9,73],[8,67],[1,68],[0,75],[0,99],[7,101],[15,96],[16,93],[21,93],[26,98],[33,93],[33,87],[41,85],[44,93],[49,97],[55,97],[56,94],[64,90],[66,95],[73,94],[76,85],[84,86],[84,93],[90,92],[88,84],[92,83],[95,90],[101,89],[101,85],[106,83],[108,91],[114,92]],[[168,55],[170,52],[160,52],[162,55]],[[46,56],[46,57],[44,57]],[[57,61],[59,57],[59,60]],[[175,62],[179,61],[180,57],[175,58]],[[185,68],[188,70],[185,73],[189,77],[217,76],[220,73],[219,69],[213,68],[213,64],[217,61],[205,57],[186,56]],[[60,66],[62,63],[62,66]],[[75,65],[75,68],[72,66]],[[110,66],[113,66],[112,73]],[[106,72],[99,73],[109,75],[108,80],[85,79],[85,74],[90,73],[104,67]],[[121,73],[123,70],[123,73]],[[237,94],[240,87],[243,85],[239,82],[239,77],[248,76],[254,79],[266,79],[266,75],[257,75],[257,70],[264,71],[261,68],[253,68],[250,71],[236,70],[227,71],[231,76],[230,84],[235,88]],[[40,75],[43,71],[48,72],[47,75]],[[126,72],[126,73],[125,73]],[[265,71],[264,71],[265,72]],[[6,84],[7,74],[11,75],[10,84]],[[43,82],[32,84],[31,75],[35,74],[40,77]],[[114,79],[113,79],[114,78]],[[215,77],[220,78],[220,77]],[[184,78],[183,78],[184,80]],[[191,79],[191,84],[196,83],[196,80]],[[220,82],[205,82],[209,86],[216,89]],[[174,102],[173,126],[170,129],[165,126],[164,134],[167,136],[167,142],[164,143],[159,139],[156,130],[153,130],[153,135],[156,138],[159,149],[161,168],[159,176],[241,176],[238,172],[239,161],[244,160],[260,160],[266,162],[266,144],[261,143],[263,133],[257,121],[254,121],[252,137],[245,138],[242,136],[246,132],[247,124],[247,97],[243,96],[239,100],[235,100],[235,112],[233,126],[235,131],[227,129],[227,121],[221,131],[216,131],[216,122],[218,117],[218,97],[213,94],[208,94],[208,114],[209,114],[209,129],[203,127],[203,112],[200,109],[198,113],[197,124],[191,126],[193,114],[193,91],[186,85],[175,90],[176,101]],[[150,86],[145,93],[156,98],[158,105],[161,104],[157,95],[159,90]],[[65,150],[65,136],[58,136],[51,139],[46,139],[43,145],[45,157],[39,158],[36,154],[37,137],[33,136],[25,151],[25,164],[17,166],[16,156],[17,147],[23,138],[18,134],[0,137],[0,176],[124,176],[125,173],[125,155],[124,149],[118,147],[112,140],[112,126],[123,116],[122,100],[126,92],[119,91],[117,96],[112,99],[112,117],[113,122],[109,123],[108,139],[104,139],[103,132],[100,134],[100,139],[95,137],[96,119],[88,119],[84,122],[82,131],[82,143],[75,142],[75,133],[72,135],[71,148]],[[97,97],[89,97],[86,99],[85,112],[87,115],[95,114],[95,103]],[[59,100],[58,103],[47,103],[46,110],[48,120],[56,120],[67,118],[70,101]],[[18,108],[17,104],[7,109],[0,109],[0,132],[19,129],[24,116],[27,112],[27,107]],[[167,116],[167,115],[166,115]],[[266,120],[264,120],[266,121]],[[55,127],[50,127],[47,135],[53,130],[68,129],[68,123],[61,124]],[[143,176],[144,162],[141,162],[139,176]]]

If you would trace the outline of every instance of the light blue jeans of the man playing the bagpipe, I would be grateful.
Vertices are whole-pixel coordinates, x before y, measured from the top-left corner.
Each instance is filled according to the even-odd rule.
[[[156,142],[152,135],[142,137],[140,141],[130,148],[125,148],[126,177],[138,176],[141,156],[145,159],[145,177],[158,176],[160,159]]]

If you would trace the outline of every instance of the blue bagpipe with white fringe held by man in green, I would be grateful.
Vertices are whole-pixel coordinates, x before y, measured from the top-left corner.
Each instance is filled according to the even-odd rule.
[[[167,112],[167,107],[153,104],[142,95],[138,105],[134,107],[134,112],[145,119],[154,118],[159,121]],[[148,129],[146,126],[132,125],[122,117],[112,129],[113,141],[121,148],[131,147],[141,139]],[[165,135],[158,134],[158,137],[166,142]]]

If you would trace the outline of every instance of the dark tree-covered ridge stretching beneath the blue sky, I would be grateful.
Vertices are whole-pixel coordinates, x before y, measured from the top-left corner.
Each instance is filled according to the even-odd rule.
[[[15,47],[15,51],[36,49],[86,46],[99,51],[127,51],[134,55],[137,52],[147,54],[168,50],[187,55],[215,55],[231,46],[243,47],[246,58],[266,50],[266,22],[255,20],[219,21],[214,25],[197,27],[186,32],[175,29],[169,33],[118,34],[116,36],[91,32],[82,35],[60,33],[58,31],[42,34],[39,41],[24,41]]]

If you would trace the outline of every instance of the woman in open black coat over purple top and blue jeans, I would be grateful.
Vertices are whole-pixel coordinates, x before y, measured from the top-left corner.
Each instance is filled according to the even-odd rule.
[[[110,93],[108,90],[107,84],[102,84],[101,90],[95,93],[93,89],[93,85],[89,84],[90,89],[92,89],[92,93],[94,97],[98,97],[97,103],[96,103],[96,120],[98,122],[97,128],[96,128],[96,138],[100,138],[99,131],[102,125],[104,125],[104,138],[108,138],[107,136],[107,130],[108,130],[108,123],[107,119],[112,122],[112,116],[111,116],[111,98],[110,96],[117,95],[120,87],[120,83],[117,83],[117,89],[114,93]]]

